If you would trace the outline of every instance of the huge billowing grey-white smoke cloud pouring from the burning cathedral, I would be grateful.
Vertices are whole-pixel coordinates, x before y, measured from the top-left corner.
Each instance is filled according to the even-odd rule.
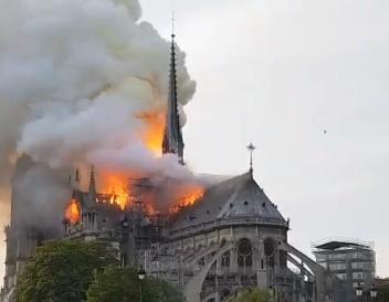
[[[63,206],[63,179],[54,170],[94,164],[191,177],[174,157],[157,159],[139,136],[149,127],[139,114],[165,109],[170,42],[139,21],[137,0],[0,6],[0,186],[9,187],[21,154],[36,163],[18,180],[18,192],[29,194],[21,197],[30,203],[23,219],[50,224],[39,215],[42,206],[54,199]],[[183,121],[196,83],[180,50],[177,77]]]

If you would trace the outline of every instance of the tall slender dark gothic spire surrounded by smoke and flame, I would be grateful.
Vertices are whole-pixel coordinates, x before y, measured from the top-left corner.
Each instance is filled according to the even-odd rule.
[[[183,164],[183,139],[178,114],[177,69],[176,69],[176,35],[171,34],[169,96],[166,114],[166,126],[162,142],[162,153],[176,154]]]

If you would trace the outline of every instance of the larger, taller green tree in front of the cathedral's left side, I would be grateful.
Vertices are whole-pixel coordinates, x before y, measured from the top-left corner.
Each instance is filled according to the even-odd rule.
[[[48,242],[18,279],[15,301],[85,301],[93,272],[116,262],[116,251],[104,244]]]

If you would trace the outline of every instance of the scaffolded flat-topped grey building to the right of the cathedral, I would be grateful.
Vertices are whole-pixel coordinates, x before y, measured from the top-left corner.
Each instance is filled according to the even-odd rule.
[[[326,239],[313,245],[317,263],[341,282],[343,301],[355,301],[356,288],[368,291],[375,282],[376,252],[372,242]]]

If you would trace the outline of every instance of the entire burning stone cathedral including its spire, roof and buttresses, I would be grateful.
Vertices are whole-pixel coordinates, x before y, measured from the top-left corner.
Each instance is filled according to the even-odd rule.
[[[178,97],[172,35],[161,149],[176,154],[183,165]],[[250,144],[249,150],[254,147]],[[19,160],[14,180],[29,164],[25,158]],[[29,257],[51,238],[107,242],[117,248],[123,266],[143,268],[176,284],[189,302],[227,301],[249,287],[269,290],[275,301],[338,301],[336,280],[288,242],[290,220],[256,183],[252,161],[246,173],[213,182],[192,205],[165,213],[147,209],[145,195],[153,190],[147,177],[135,181],[135,202],[126,207],[112,206],[115,196],[97,192],[93,168],[87,190],[80,188],[78,171],[73,179],[61,234],[18,222],[22,205],[20,192],[12,187],[1,301],[11,301]]]

